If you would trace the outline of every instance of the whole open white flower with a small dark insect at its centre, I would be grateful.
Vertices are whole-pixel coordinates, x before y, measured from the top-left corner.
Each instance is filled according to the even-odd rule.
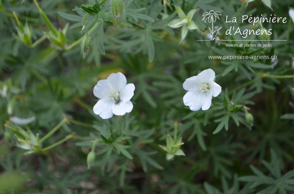
[[[107,79],[99,80],[93,92],[101,99],[94,105],[94,113],[108,119],[113,114],[124,115],[131,112],[133,104],[130,100],[134,95],[135,86],[126,83],[126,77],[121,72],[112,73]]]

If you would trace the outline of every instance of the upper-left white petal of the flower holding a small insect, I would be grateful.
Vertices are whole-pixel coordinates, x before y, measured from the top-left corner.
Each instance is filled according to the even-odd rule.
[[[99,80],[93,89],[93,93],[97,98],[107,98],[111,92],[113,92],[113,87],[107,79]]]

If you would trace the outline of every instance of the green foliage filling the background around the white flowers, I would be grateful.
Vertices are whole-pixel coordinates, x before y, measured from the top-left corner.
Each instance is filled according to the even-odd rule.
[[[124,0],[119,17],[112,1],[0,0],[0,193],[293,193],[293,76],[283,77],[293,74],[293,1]],[[182,42],[181,30],[167,26],[178,18],[171,4],[185,13],[199,8],[199,30]],[[226,47],[241,37],[224,30],[218,36],[232,41],[197,41],[206,40],[201,20],[210,10],[222,13],[222,29],[231,25],[225,15],[238,10],[237,17],[286,17],[263,27],[272,29],[271,40],[287,41]],[[240,18],[234,26],[252,29]],[[91,48],[83,53],[86,37]],[[183,104],[182,84],[209,68],[222,93],[209,110],[193,112]],[[92,89],[112,72],[135,84],[134,108],[103,120],[93,113]],[[11,116],[36,119],[16,125]],[[34,142],[52,129],[29,152],[20,148],[22,137]],[[185,156],[167,161],[159,145],[174,134]]]

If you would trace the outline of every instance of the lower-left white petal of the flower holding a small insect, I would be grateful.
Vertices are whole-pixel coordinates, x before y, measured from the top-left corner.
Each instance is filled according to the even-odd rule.
[[[98,102],[94,105],[93,111],[96,115],[99,115],[103,119],[111,118],[112,113],[112,105],[114,101],[111,98],[103,98],[98,100]]]

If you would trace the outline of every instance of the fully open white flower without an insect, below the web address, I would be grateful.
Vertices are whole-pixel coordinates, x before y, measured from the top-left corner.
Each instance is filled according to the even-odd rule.
[[[213,81],[215,76],[212,69],[206,69],[197,76],[186,79],[183,88],[188,92],[183,98],[184,104],[193,111],[201,107],[202,110],[210,108],[212,96],[216,97],[221,92],[220,85]]]

